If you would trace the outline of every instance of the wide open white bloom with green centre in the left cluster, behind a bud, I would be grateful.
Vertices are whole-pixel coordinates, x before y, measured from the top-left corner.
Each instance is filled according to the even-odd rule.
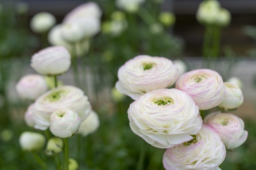
[[[81,120],[86,119],[91,110],[88,97],[74,86],[61,86],[40,96],[33,109],[35,128],[45,130],[50,125],[50,116],[59,109],[74,110]]]

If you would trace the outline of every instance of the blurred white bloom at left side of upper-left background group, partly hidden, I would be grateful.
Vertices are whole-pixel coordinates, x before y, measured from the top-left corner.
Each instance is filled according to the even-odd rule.
[[[62,36],[62,26],[62,24],[58,24],[50,30],[48,34],[48,41],[51,45],[64,46],[71,52],[72,45]]]

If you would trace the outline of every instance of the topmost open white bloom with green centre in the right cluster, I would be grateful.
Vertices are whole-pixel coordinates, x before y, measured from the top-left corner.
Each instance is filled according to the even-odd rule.
[[[139,55],[119,68],[115,87],[136,100],[146,92],[173,85],[178,74],[176,65],[169,59]]]

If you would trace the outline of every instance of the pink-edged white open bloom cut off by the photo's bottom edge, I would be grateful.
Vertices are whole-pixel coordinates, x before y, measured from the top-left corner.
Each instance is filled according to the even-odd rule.
[[[226,149],[221,138],[208,125],[202,125],[193,139],[168,148],[163,154],[166,170],[220,170]]]

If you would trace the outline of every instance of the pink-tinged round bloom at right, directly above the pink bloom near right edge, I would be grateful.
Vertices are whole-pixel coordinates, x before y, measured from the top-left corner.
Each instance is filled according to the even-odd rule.
[[[225,93],[222,77],[210,69],[192,70],[183,74],[175,88],[189,94],[200,110],[218,106]]]

